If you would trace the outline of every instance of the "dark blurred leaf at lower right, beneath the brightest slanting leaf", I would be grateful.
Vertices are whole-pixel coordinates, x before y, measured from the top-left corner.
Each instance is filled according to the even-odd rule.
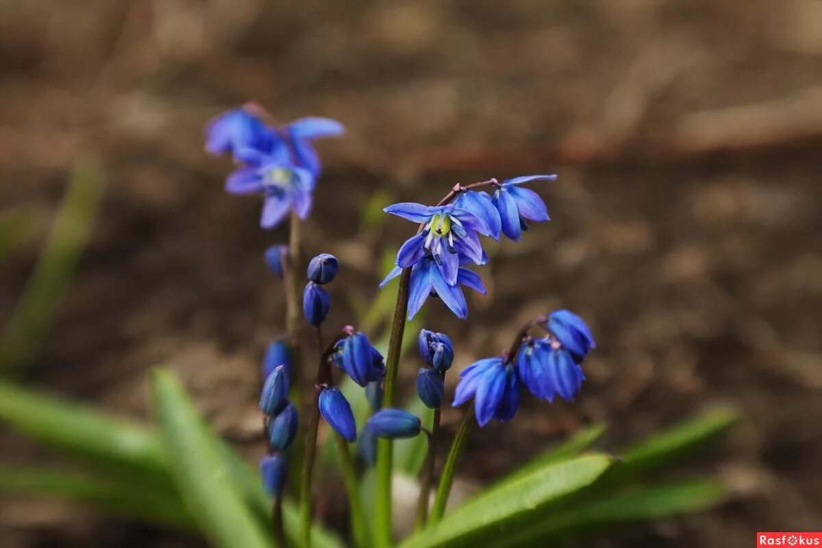
[[[522,527],[508,532],[494,546],[546,546],[590,536],[607,526],[701,512],[726,499],[727,491],[711,480],[642,487],[603,500],[574,504],[558,513],[535,516]]]

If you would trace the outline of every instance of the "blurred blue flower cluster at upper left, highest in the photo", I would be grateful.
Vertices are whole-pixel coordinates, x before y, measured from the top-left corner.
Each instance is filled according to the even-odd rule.
[[[231,154],[239,164],[226,179],[226,191],[264,196],[262,228],[274,228],[289,211],[306,219],[321,172],[312,140],[339,136],[344,128],[323,117],[305,117],[273,127],[263,122],[257,109],[234,108],[215,117],[205,127],[205,150]]]

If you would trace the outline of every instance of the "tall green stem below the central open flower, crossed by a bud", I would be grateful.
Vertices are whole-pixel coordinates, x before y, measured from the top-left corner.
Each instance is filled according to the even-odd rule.
[[[403,344],[405,316],[409,307],[409,282],[411,269],[403,269],[399,276],[397,304],[394,309],[394,321],[391,324],[391,335],[386,357],[386,388],[382,396],[382,407],[390,408],[394,403],[394,392],[399,367],[399,352]],[[377,442],[376,457],[376,497],[374,511],[374,542],[378,548],[391,545],[391,472],[393,471],[394,445],[391,440]]]

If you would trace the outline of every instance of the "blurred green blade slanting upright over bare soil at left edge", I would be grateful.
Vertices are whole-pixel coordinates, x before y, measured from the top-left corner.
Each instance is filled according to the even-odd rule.
[[[0,371],[19,371],[48,333],[89,239],[104,187],[98,168],[75,169],[35,271],[0,336]]]

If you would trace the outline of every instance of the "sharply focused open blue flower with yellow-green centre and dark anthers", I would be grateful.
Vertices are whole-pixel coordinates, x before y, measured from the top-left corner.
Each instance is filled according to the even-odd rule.
[[[395,214],[414,223],[425,223],[423,231],[410,237],[400,246],[397,266],[408,268],[426,256],[432,256],[448,285],[457,283],[458,253],[475,265],[485,263],[483,246],[478,234],[488,236],[491,229],[487,219],[479,219],[469,210],[459,210],[454,204],[429,206],[404,202],[386,207],[386,213]]]

